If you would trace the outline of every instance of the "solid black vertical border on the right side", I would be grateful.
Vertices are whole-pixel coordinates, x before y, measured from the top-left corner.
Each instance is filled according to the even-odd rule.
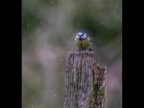
[[[140,5],[141,4],[141,5]],[[143,106],[143,17],[140,1],[123,0],[123,107]]]

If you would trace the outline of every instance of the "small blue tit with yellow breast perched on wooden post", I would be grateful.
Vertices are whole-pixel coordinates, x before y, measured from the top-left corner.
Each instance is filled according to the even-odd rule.
[[[91,44],[90,37],[85,32],[78,32],[75,36],[75,44],[79,50],[87,50]]]

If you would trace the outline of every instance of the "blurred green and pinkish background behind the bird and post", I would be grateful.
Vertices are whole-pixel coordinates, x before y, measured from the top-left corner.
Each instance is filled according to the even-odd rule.
[[[122,108],[122,0],[22,0],[22,108],[63,108],[65,56],[79,31],[107,66],[107,108]]]

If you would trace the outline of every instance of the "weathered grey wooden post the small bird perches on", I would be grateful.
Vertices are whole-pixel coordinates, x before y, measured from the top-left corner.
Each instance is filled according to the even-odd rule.
[[[96,62],[95,52],[68,53],[64,108],[106,108],[105,72]]]

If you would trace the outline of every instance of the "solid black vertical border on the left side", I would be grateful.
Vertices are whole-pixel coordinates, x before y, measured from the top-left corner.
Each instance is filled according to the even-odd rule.
[[[1,2],[1,107],[21,107],[21,1]]]

